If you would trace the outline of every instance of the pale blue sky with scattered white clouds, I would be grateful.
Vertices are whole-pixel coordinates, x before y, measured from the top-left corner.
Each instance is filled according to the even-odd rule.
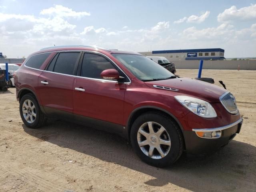
[[[48,46],[150,50],[222,48],[256,57],[256,0],[0,0],[0,52]]]

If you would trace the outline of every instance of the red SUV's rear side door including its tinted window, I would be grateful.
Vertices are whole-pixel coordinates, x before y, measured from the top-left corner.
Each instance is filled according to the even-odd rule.
[[[39,76],[39,95],[46,114],[72,118],[72,89],[80,56],[79,51],[59,52]]]

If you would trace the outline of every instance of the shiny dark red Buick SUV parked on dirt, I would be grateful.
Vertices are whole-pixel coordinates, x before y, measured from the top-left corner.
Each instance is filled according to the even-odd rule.
[[[234,96],[178,78],[145,56],[92,46],[45,48],[15,75],[20,116],[30,128],[58,117],[114,132],[138,156],[167,166],[183,151],[212,152],[240,132]]]

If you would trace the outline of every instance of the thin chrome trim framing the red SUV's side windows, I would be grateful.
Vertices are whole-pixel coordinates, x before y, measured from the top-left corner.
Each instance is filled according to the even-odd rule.
[[[84,52],[84,53],[94,53],[94,54],[99,54],[102,56],[105,56],[106,58],[108,58],[118,69],[120,69],[125,76],[128,78],[129,82],[124,82],[124,83],[120,83],[120,84],[130,84],[131,80],[128,77],[128,75],[126,75],[126,73],[112,60],[110,59],[108,56],[106,56],[105,54],[102,54],[100,52],[97,51],[86,51],[86,50],[64,50],[64,51],[50,51],[50,52],[44,52],[44,53],[52,53],[52,52]],[[38,54],[44,54],[44,53],[38,53]],[[38,55],[38,54],[34,54],[34,55]],[[34,56],[32,55],[32,56]],[[31,56],[31,57],[32,57]],[[30,58],[31,58],[30,57]],[[30,60],[30,58],[28,60]],[[28,60],[26,61],[26,63],[28,62]],[[70,76],[70,77],[77,77],[77,78],[82,78],[82,79],[88,79],[88,80],[95,80],[95,81],[101,81],[101,82],[111,82],[111,83],[119,83],[117,80],[106,80],[106,79],[96,79],[96,78],[89,78],[89,77],[82,77],[82,76],[76,76],[76,75],[69,75],[69,74],[63,74],[63,73],[57,73],[57,72],[52,72],[52,71],[46,71],[46,70],[40,70],[40,69],[36,69],[36,68],[32,68],[32,67],[28,67],[26,66],[26,63],[24,64],[24,66],[26,68],[30,68],[33,70],[37,70],[37,71],[43,71],[43,72],[48,72],[48,73],[54,73],[54,74],[59,74],[59,75],[65,75],[65,76]]]

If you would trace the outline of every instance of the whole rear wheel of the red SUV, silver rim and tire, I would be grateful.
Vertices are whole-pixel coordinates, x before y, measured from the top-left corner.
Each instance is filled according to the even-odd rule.
[[[46,122],[46,118],[32,94],[26,94],[21,98],[20,116],[24,124],[30,128],[38,128]]]

